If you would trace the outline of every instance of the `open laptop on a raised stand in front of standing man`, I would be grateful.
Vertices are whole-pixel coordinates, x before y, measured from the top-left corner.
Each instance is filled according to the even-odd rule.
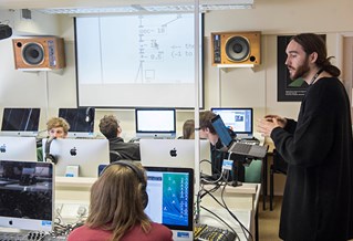
[[[256,158],[263,158],[266,156],[268,145],[259,146],[255,144],[239,143],[236,139],[232,139],[220,115],[212,118],[211,124],[221,143],[227,147],[228,153]]]

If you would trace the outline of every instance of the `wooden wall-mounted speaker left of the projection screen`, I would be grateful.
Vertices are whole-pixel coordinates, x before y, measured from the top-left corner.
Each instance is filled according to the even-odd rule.
[[[64,40],[56,36],[13,39],[15,69],[58,70],[65,67]]]

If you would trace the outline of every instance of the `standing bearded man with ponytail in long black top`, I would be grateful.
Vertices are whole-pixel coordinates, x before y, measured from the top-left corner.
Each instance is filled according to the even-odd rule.
[[[288,163],[280,219],[285,241],[353,239],[353,140],[351,105],[316,34],[287,46],[290,77],[309,84],[298,122],[268,115],[258,124]]]

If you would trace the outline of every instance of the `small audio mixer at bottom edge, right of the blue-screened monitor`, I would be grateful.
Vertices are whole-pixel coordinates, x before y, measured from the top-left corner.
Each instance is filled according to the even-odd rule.
[[[237,233],[232,231],[207,224],[197,224],[194,229],[194,239],[199,241],[233,241],[237,237]]]

